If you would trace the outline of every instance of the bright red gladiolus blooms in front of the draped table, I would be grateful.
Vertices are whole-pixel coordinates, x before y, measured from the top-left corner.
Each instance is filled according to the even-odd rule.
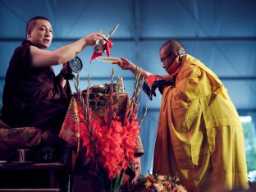
[[[128,111],[132,114],[131,109]],[[113,179],[134,160],[136,138],[139,136],[139,118],[135,114],[125,117],[124,126],[120,118],[109,121],[106,116],[104,120],[90,119],[87,127],[83,112],[80,108],[80,133],[87,149],[86,157],[93,160],[98,158],[99,165],[107,170],[108,178]]]

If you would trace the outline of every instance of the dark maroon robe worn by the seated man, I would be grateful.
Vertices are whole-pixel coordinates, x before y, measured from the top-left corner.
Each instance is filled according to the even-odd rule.
[[[11,127],[34,126],[58,134],[70,101],[71,88],[60,84],[52,66],[31,67],[25,40],[11,57],[2,95],[2,120]]]

